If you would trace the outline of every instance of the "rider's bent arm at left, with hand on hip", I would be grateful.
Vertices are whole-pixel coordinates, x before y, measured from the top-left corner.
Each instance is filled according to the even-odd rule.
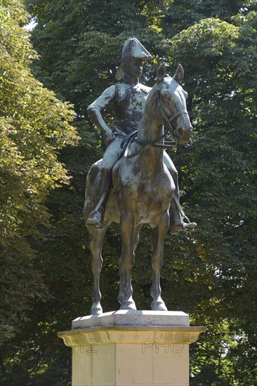
[[[112,142],[115,137],[112,130],[105,124],[102,112],[112,104],[114,95],[115,86],[110,86],[95,100],[95,102],[88,106],[88,116],[91,118],[91,121],[93,121],[93,124],[101,129],[106,142]]]

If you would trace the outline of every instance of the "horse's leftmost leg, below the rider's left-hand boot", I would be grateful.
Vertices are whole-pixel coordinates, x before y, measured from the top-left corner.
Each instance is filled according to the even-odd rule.
[[[92,272],[93,272],[93,292],[92,292],[92,307],[91,315],[102,314],[103,308],[100,305],[100,272],[103,266],[102,247],[103,238],[105,236],[107,227],[103,229],[88,229],[90,232],[89,247],[92,255]]]

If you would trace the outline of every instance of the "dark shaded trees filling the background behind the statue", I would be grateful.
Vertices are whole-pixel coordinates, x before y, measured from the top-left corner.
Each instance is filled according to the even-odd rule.
[[[1,4],[7,7],[6,2]],[[19,3],[13,0],[11,4],[17,8]],[[103,152],[100,133],[88,121],[86,107],[115,83],[123,43],[129,36],[136,36],[154,56],[144,68],[143,83],[154,84],[155,70],[162,61],[170,65],[171,75],[178,62],[183,65],[188,110],[195,126],[192,147],[174,149],[171,157],[179,171],[185,212],[199,226],[190,237],[167,237],[162,277],[163,297],[169,309],[188,312],[191,324],[208,327],[208,332],[191,347],[191,383],[255,385],[256,1],[27,0],[26,6],[37,21],[32,44],[39,59],[34,60],[32,72],[59,99],[74,104],[74,125],[81,140],[59,151],[59,161],[72,179],[70,185],[47,186],[51,194],[41,199],[41,206],[47,208],[46,221],[39,224],[32,206],[25,214],[15,216],[25,216],[22,224],[27,224],[26,229],[40,227],[41,238],[34,232],[25,234],[33,258],[23,248],[12,253],[14,276],[9,282],[13,285],[18,281],[28,290],[26,301],[14,312],[18,318],[22,314],[23,319],[18,322],[15,317],[13,337],[6,337],[1,350],[1,384],[70,382],[70,352],[56,333],[67,330],[72,319],[89,312],[91,262],[81,208],[86,171]],[[25,22],[23,11],[19,15],[13,36],[23,31],[18,28],[19,22]],[[8,51],[25,55],[18,41]],[[15,68],[18,62],[20,59],[15,60]],[[20,73],[17,79],[21,79]],[[33,84],[34,93],[37,87]],[[3,90],[2,99],[12,97],[8,88]],[[60,108],[65,107],[56,106],[65,105],[52,98],[55,121],[51,129],[59,128],[60,133]],[[13,106],[16,104],[18,111],[23,111],[22,99],[16,98]],[[42,108],[31,108],[32,119]],[[45,109],[49,108],[47,105]],[[47,137],[47,125],[43,128],[48,117],[45,109],[39,123],[31,125],[38,131],[41,127],[40,135],[32,142],[33,149],[39,148],[41,136],[43,140]],[[6,117],[2,111],[1,116]],[[109,113],[106,119],[111,125]],[[22,138],[22,128],[16,130],[16,136]],[[10,138],[13,140],[13,136]],[[24,148],[12,150],[12,154],[19,151],[14,157],[18,163],[18,156],[26,157]],[[46,158],[41,162],[45,168]],[[20,187],[12,187],[13,181],[9,178],[6,186],[15,192]],[[6,197],[2,197],[6,203]],[[21,205],[21,195],[17,197]],[[16,236],[13,246],[19,242]],[[149,245],[149,230],[145,228],[133,269],[139,309],[150,307]],[[13,246],[9,245],[8,251]],[[114,226],[107,232],[101,277],[105,312],[118,307],[114,293],[118,288],[119,252],[119,229]],[[9,260],[1,262],[10,271]],[[23,274],[17,278],[18,264],[22,268],[19,272],[27,272],[27,277]],[[20,298],[8,286],[5,288],[6,305]],[[6,317],[11,320],[8,314]]]

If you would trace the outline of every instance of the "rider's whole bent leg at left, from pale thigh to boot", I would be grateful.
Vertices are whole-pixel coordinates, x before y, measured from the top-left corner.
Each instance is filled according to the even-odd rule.
[[[100,184],[97,197],[98,205],[95,210],[90,213],[88,220],[86,221],[86,226],[88,227],[101,228],[103,225],[105,206],[110,194],[112,168],[120,159],[123,151],[120,147],[121,141],[121,138],[116,138],[105,150],[100,169]]]

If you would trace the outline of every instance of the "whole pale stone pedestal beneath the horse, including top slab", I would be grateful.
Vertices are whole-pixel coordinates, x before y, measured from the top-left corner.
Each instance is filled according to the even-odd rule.
[[[72,386],[186,386],[189,345],[205,330],[184,312],[120,310],[77,318],[58,336],[72,347]]]

